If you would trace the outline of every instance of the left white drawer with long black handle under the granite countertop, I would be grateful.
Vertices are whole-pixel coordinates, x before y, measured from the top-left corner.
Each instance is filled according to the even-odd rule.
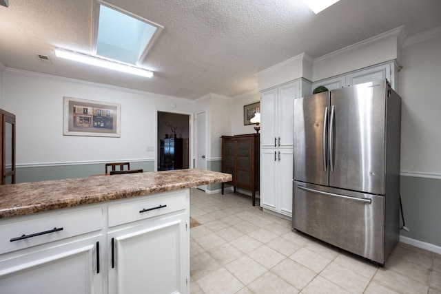
[[[19,216],[16,221],[0,225],[0,254],[99,231],[102,227],[101,207]]]

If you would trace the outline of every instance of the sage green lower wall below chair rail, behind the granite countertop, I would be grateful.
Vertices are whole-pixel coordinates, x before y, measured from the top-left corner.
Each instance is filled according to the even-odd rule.
[[[130,169],[154,171],[154,161],[130,162]],[[39,182],[41,180],[61,180],[64,178],[84,178],[105,174],[105,164],[54,165],[46,167],[17,167],[16,182]]]

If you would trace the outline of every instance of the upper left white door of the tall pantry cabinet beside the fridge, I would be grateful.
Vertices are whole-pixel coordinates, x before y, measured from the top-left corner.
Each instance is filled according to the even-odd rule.
[[[262,147],[276,147],[277,89],[263,92],[260,97],[260,141]]]

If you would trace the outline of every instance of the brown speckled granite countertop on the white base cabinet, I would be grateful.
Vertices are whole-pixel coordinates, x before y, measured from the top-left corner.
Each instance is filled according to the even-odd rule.
[[[231,180],[232,175],[216,171],[179,169],[0,185],[0,218]]]

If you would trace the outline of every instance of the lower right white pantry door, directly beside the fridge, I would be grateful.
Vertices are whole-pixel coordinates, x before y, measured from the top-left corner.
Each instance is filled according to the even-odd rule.
[[[278,161],[278,184],[280,213],[292,216],[292,149],[280,149],[280,161]]]

